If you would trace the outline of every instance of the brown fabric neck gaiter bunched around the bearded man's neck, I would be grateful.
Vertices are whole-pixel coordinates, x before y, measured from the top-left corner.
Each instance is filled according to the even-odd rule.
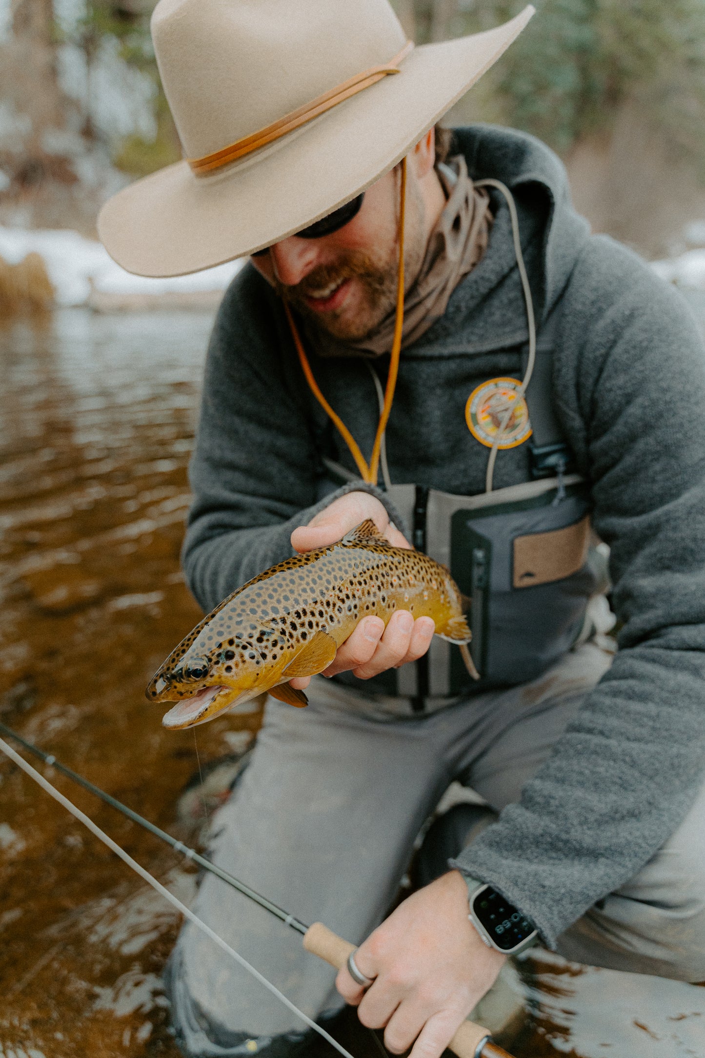
[[[420,339],[443,315],[453,290],[480,261],[489,241],[489,196],[484,188],[475,188],[463,156],[458,154],[437,171],[447,202],[430,234],[419,275],[406,293],[402,348]],[[390,351],[394,321],[395,311],[357,342],[339,341],[311,321],[307,321],[305,331],[319,357],[374,358]]]

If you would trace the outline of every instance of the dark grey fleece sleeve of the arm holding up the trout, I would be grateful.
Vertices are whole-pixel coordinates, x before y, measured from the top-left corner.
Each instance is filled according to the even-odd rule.
[[[226,292],[210,336],[189,469],[193,504],[182,562],[206,612],[294,554],[292,531],[346,492],[372,493],[401,525],[381,490],[327,481],[317,411],[283,313],[247,266]]]

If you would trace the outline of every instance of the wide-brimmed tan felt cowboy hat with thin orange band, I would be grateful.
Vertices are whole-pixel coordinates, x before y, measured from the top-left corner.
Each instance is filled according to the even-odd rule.
[[[387,0],[160,0],[186,158],[115,195],[100,239],[129,272],[167,276],[301,231],[396,165],[533,14],[414,48]]]

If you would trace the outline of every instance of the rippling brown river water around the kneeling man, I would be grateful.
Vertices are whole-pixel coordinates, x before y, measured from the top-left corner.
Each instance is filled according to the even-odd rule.
[[[194,777],[209,788],[209,774],[227,774],[259,722],[217,718],[197,745],[144,698],[200,617],[179,548],[209,326],[206,313],[72,309],[0,331],[0,720],[191,840],[219,796],[217,783],[194,796]],[[191,898],[194,875],[170,850],[40,769]],[[160,974],[178,925],[0,760],[0,1058],[177,1058]],[[705,1055],[705,988],[548,953],[520,961],[485,1016],[517,1058]]]

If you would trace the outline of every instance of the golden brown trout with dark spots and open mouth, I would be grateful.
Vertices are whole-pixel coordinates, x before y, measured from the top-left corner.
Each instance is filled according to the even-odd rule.
[[[286,559],[228,596],[169,655],[147,688],[150,701],[175,701],[167,728],[205,724],[268,691],[305,706],[295,676],[327,669],[358,621],[387,624],[396,609],[430,617],[435,635],[464,645],[470,631],[462,597],[445,566],[392,547],[372,521],[337,544]]]

